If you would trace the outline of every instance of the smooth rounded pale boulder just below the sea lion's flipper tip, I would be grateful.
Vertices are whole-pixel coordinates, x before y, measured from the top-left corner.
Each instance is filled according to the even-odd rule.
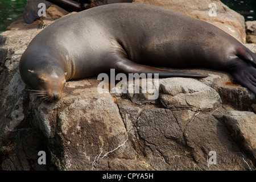
[[[162,104],[171,109],[208,110],[221,106],[218,93],[193,78],[166,78],[160,80]]]

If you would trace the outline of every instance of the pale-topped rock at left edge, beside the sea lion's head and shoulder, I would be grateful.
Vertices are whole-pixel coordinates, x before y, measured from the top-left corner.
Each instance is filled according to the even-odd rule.
[[[28,43],[40,30],[6,31],[0,34],[0,138],[6,138],[29,114],[26,100],[25,84],[19,76],[19,59]],[[1,144],[2,140],[0,140]]]

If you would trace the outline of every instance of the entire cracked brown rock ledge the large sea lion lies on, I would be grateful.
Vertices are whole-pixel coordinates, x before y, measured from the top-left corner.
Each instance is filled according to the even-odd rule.
[[[0,34],[0,169],[255,169],[255,94],[228,73],[193,69],[209,76],[160,79],[156,100],[100,94],[93,77],[67,82],[60,101],[45,102],[26,90],[18,71],[41,30]],[[38,164],[39,151],[46,165]],[[208,162],[210,151],[217,164]]]

